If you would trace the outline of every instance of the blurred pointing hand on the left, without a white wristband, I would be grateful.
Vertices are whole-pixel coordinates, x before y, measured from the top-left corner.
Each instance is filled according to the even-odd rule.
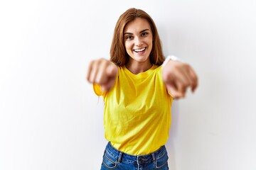
[[[117,66],[110,60],[92,60],[88,67],[87,81],[99,84],[102,91],[109,91],[114,85],[117,74]]]

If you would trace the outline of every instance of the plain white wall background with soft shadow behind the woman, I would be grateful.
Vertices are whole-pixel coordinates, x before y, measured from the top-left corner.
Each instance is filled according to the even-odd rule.
[[[0,2],[1,170],[100,169],[103,102],[85,74],[130,7],[199,77],[174,101],[170,169],[256,169],[254,0],[25,0]]]

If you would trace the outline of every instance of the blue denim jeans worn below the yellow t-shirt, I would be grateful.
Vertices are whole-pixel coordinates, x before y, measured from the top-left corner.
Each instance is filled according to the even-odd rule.
[[[169,169],[167,160],[168,155],[165,146],[151,154],[136,156],[120,152],[112,147],[109,142],[103,155],[101,170],[167,170]]]

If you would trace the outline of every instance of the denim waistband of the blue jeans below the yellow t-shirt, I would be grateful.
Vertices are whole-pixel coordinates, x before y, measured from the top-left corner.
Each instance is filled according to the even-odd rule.
[[[151,154],[132,155],[132,154],[126,154],[124,152],[121,152],[115,149],[109,142],[107,144],[105,152],[107,152],[107,154],[110,154],[112,155],[112,157],[117,159],[117,162],[129,162],[129,163],[137,162],[138,164],[143,164],[145,162],[155,161],[156,157],[161,157],[163,154],[166,153],[166,147],[162,146],[159,149],[157,149],[155,152],[152,152]]]

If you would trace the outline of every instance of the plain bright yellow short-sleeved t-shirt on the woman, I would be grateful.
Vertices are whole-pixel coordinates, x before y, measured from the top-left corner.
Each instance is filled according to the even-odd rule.
[[[149,154],[165,145],[171,126],[171,101],[161,66],[139,74],[119,67],[114,86],[103,93],[105,138],[116,149],[133,155]]]

